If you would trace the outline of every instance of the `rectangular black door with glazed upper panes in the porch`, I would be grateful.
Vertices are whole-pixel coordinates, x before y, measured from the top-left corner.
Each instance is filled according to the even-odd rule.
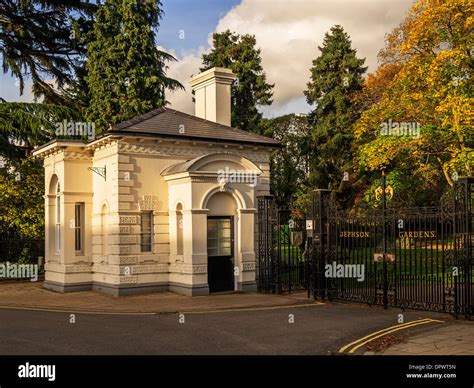
[[[209,291],[234,289],[234,218],[207,219],[207,275]]]

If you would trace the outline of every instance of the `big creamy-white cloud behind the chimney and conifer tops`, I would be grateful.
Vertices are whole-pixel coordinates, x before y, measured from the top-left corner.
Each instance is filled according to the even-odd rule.
[[[404,19],[412,3],[412,0],[243,0],[222,17],[216,31],[230,29],[256,36],[268,82],[275,83],[273,105],[263,110],[266,116],[289,113],[290,109],[305,112],[309,107],[303,91],[324,34],[332,26],[342,25],[358,56],[366,57],[369,71],[374,71],[385,34]],[[209,47],[211,36],[212,33]],[[188,89],[186,93],[168,95],[173,108],[193,113],[187,82],[191,74],[199,71],[203,52],[200,48],[171,64],[169,75]]]

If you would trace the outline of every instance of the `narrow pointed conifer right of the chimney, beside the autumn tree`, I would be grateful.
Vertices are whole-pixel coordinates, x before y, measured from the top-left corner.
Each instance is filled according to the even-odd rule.
[[[319,50],[305,91],[314,106],[309,115],[313,126],[310,181],[317,188],[338,189],[352,164],[352,125],[359,116],[352,97],[361,90],[367,68],[341,26],[326,33]]]

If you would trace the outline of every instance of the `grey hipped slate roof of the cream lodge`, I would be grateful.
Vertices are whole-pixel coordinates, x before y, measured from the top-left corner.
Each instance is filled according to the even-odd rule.
[[[182,129],[182,133],[180,133],[180,129]],[[272,138],[204,120],[170,108],[158,108],[136,116],[113,126],[104,135],[107,134],[166,136],[251,143],[267,147],[280,146],[280,142]]]

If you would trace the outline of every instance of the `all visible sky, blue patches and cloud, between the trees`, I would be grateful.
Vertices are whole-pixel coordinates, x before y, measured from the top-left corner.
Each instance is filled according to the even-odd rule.
[[[324,34],[335,24],[349,33],[369,71],[377,67],[384,36],[406,16],[413,0],[162,0],[165,15],[158,45],[178,61],[168,75],[186,91],[168,94],[171,107],[193,113],[190,76],[199,72],[202,53],[210,49],[213,32],[230,29],[254,34],[262,50],[263,68],[275,84],[274,102],[265,116],[308,112],[303,91],[312,60],[319,55]],[[184,33],[184,34],[183,34]],[[183,39],[184,38],[184,39]],[[31,101],[19,96],[15,80],[0,75],[0,96],[8,101]]]

